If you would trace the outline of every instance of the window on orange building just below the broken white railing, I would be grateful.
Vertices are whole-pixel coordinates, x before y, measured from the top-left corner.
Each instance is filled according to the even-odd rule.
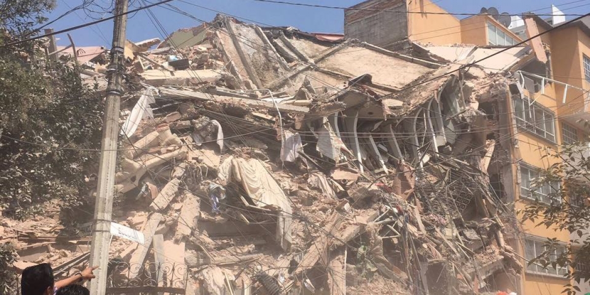
[[[514,114],[519,128],[555,142],[555,113],[538,103],[530,104],[528,97],[513,96]]]

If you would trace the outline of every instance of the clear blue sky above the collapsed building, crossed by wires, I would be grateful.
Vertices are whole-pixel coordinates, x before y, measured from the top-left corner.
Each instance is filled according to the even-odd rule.
[[[130,0],[132,8],[145,6],[148,2],[156,2],[158,0]],[[306,4],[320,4],[331,6],[348,7],[361,0],[287,0],[290,2],[299,2]],[[420,0],[415,0],[420,1]],[[71,7],[80,5],[82,0],[57,0],[57,8],[48,15],[48,18],[55,19],[58,16],[69,11]],[[110,6],[112,0],[94,0],[95,3],[102,6]],[[188,3],[187,3],[188,2]],[[455,13],[474,13],[477,14],[481,7],[495,6],[500,12],[509,12],[510,14],[520,14],[526,11],[533,11],[537,14],[549,14],[552,4],[564,10],[566,14],[585,14],[590,11],[590,0],[574,1],[574,0],[434,0],[437,5],[446,9],[449,12]],[[571,3],[575,2],[575,3]],[[211,21],[217,14],[212,11],[222,11],[225,14],[235,15],[241,18],[251,19],[267,25],[274,26],[291,26],[299,28],[302,31],[309,32],[343,32],[343,18],[344,12],[341,9],[326,9],[326,8],[311,8],[303,6],[291,6],[284,4],[273,4],[266,2],[257,2],[254,0],[175,0],[169,2],[178,7],[187,14],[193,15],[195,18],[204,21]],[[194,5],[203,6],[199,8]],[[577,7],[576,7],[577,6]],[[166,9],[168,8],[168,9]],[[208,9],[212,10],[208,10]],[[541,9],[542,10],[536,10]],[[96,6],[94,10],[99,10]],[[158,32],[155,25],[148,17],[146,11],[139,11],[135,15],[130,15],[127,23],[127,39],[132,41],[141,41],[149,38],[162,38],[162,34],[171,33],[179,28],[194,27],[199,25],[195,19],[186,17],[169,10],[168,6],[151,8],[152,13],[158,19],[165,32]],[[104,14],[109,16],[109,14]],[[91,16],[100,18],[102,15],[91,13]],[[462,18],[462,17],[459,17]],[[568,17],[568,19],[571,17]],[[50,27],[54,30],[61,30],[74,25],[82,24],[84,22],[92,21],[84,11],[77,11],[71,13],[64,18],[58,20]],[[112,38],[113,22],[106,21],[101,24],[93,25],[91,27],[81,28],[70,32],[74,42],[78,46],[104,45],[110,47],[110,40]],[[433,30],[435,30],[433,28]],[[58,44],[69,44],[68,38],[65,34],[58,35]]]

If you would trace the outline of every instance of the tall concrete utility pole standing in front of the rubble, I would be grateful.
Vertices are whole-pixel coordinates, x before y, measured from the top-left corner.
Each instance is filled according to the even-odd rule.
[[[110,223],[113,211],[114,175],[117,165],[117,143],[119,138],[120,99],[123,92],[125,29],[127,27],[128,0],[117,0],[113,29],[113,47],[109,64],[109,86],[107,87],[106,110],[104,113],[103,137],[101,140],[99,184],[94,207],[94,231],[90,249],[90,266],[96,278],[90,281],[90,294],[103,295],[106,291],[107,267],[109,264]]]

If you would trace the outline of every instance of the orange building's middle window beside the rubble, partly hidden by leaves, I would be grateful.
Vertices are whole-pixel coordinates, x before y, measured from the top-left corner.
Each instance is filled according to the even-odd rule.
[[[561,198],[555,199],[555,195],[561,188],[561,183],[550,182],[543,183],[542,186],[533,185],[535,178],[539,177],[539,172],[528,165],[520,165],[520,197],[534,199],[545,204],[551,204],[552,201],[561,202]]]

